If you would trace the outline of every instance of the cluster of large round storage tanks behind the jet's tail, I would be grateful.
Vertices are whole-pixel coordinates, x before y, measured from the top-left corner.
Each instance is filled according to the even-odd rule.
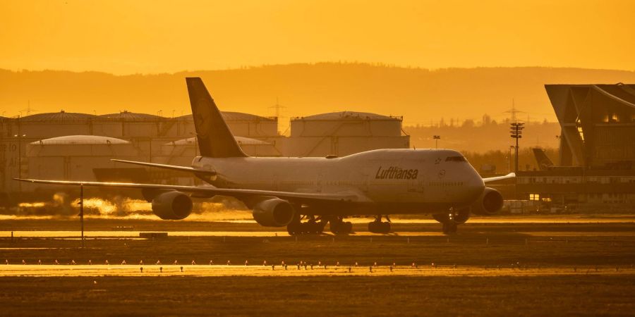
[[[50,198],[55,187],[12,178],[157,182],[193,185],[179,172],[138,168],[110,159],[189,166],[198,155],[191,114],[35,113],[0,118],[0,201]],[[278,118],[223,112],[229,129],[250,156],[345,156],[383,148],[408,148],[401,117],[343,111],[291,119],[289,135]],[[39,196],[38,196],[39,195]]]

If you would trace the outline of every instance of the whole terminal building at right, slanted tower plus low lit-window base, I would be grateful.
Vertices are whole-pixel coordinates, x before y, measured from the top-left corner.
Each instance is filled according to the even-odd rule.
[[[635,85],[545,85],[560,123],[554,166],[521,171],[517,197],[635,204]]]

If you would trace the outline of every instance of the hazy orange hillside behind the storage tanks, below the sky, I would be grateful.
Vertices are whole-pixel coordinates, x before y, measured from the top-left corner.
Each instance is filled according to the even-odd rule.
[[[501,122],[512,106],[520,118],[555,120],[545,83],[635,82],[635,72],[579,68],[451,68],[425,70],[354,63],[291,64],[159,75],[0,70],[0,108],[32,112],[135,112],[179,116],[189,112],[183,77],[201,76],[217,104],[228,111],[282,116],[358,110],[404,116],[406,125],[441,118]],[[25,115],[25,111],[23,111]]]

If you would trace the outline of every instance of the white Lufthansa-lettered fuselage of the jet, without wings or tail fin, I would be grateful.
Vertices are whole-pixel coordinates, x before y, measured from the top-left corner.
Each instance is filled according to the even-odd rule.
[[[380,149],[332,159],[197,157],[192,166],[215,171],[207,181],[220,188],[349,193],[369,213],[464,208],[485,189],[464,157],[448,149]]]

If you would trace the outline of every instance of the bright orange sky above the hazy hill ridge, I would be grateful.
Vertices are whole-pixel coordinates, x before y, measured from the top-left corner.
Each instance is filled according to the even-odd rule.
[[[635,70],[635,1],[8,1],[0,68],[162,73],[358,61]]]

